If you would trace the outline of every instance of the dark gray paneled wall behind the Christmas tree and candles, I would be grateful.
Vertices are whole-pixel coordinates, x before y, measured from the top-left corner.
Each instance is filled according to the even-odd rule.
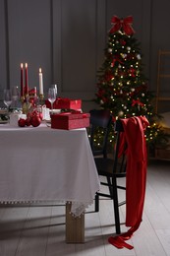
[[[158,50],[170,50],[169,10],[169,0],[0,0],[0,98],[4,88],[20,86],[20,63],[28,62],[30,88],[38,87],[41,67],[45,91],[56,83],[59,96],[92,107],[113,15],[133,16],[155,91]]]

